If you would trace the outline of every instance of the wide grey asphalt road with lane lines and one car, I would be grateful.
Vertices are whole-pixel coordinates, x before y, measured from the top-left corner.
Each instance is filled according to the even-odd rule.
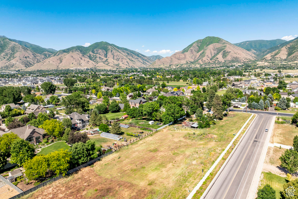
[[[276,115],[274,112],[273,114],[255,112],[258,114],[257,118],[201,198],[247,197],[268,134],[265,129],[269,129],[273,115]]]

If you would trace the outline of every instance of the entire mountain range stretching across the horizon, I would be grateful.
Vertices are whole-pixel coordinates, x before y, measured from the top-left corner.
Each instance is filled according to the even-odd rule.
[[[0,36],[0,70],[57,70],[74,68],[200,67],[243,63],[298,61],[298,38],[290,41],[253,40],[232,44],[208,36],[163,58],[146,56],[105,41],[64,50],[43,48]]]

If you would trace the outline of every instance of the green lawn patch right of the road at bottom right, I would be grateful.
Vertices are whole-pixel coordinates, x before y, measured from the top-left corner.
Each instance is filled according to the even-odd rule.
[[[280,199],[280,191],[283,190],[283,184],[286,183],[285,179],[279,175],[275,175],[273,173],[263,172],[264,178],[261,180],[261,187],[263,188],[266,184],[272,186],[275,190],[276,198]]]

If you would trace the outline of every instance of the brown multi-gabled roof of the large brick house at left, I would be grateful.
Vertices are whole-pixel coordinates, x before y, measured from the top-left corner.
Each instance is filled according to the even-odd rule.
[[[44,129],[37,128],[35,126],[30,126],[29,129],[28,129],[28,126],[19,127],[16,129],[11,129],[7,133],[9,133],[9,132],[15,133],[16,135],[19,136],[19,138],[22,138],[24,140],[26,140],[30,135],[33,137],[38,137],[38,136],[45,134]]]

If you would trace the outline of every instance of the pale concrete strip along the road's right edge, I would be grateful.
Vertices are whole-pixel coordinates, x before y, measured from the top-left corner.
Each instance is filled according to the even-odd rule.
[[[254,173],[254,177],[252,178],[252,183],[250,184],[250,188],[247,194],[247,199],[250,198],[255,198],[256,192],[257,192],[257,188],[259,185],[259,181],[260,181],[260,176],[263,170],[263,164],[265,162],[265,158],[266,158],[266,154],[267,154],[267,150],[268,150],[268,144],[271,138],[271,133],[273,130],[273,126],[274,126],[274,121],[275,121],[276,116],[273,117],[272,121],[271,121],[271,125],[270,128],[268,129],[268,134],[267,134],[267,138],[265,140],[265,144],[263,146],[263,150],[259,159],[259,162],[257,164],[257,169]]]

